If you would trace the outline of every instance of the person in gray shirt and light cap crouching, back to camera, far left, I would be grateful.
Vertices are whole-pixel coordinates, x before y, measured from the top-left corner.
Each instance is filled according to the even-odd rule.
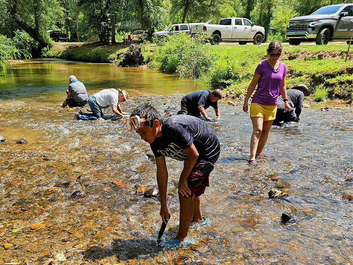
[[[66,99],[62,102],[62,107],[82,107],[88,103],[88,95],[85,85],[77,81],[76,76],[69,77],[69,86],[66,90]]]

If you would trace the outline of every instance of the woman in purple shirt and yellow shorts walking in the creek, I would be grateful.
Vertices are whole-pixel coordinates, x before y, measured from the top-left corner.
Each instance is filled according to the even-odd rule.
[[[257,165],[256,158],[261,157],[273,120],[276,118],[277,98],[281,92],[285,110],[289,104],[285,85],[286,65],[279,61],[282,53],[280,41],[272,41],[267,49],[268,59],[256,67],[252,81],[247,89],[243,110],[248,112],[248,101],[256,85],[257,89],[250,105],[250,117],[253,132],[250,141],[250,165]]]

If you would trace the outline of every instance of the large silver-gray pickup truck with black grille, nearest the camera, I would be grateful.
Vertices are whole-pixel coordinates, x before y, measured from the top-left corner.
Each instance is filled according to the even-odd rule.
[[[286,40],[291,45],[315,41],[326,45],[329,41],[349,41],[353,30],[353,3],[324,6],[309,16],[289,20]]]

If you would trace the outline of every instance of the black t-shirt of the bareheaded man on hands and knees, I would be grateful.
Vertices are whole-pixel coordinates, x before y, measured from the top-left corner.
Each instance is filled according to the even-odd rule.
[[[212,106],[214,109],[218,108],[218,102],[212,102],[210,99],[211,92],[211,90],[198,90],[187,94],[181,99],[181,104],[189,110],[190,115],[198,117],[200,116],[198,105],[202,106],[204,109],[209,108],[209,106]]]

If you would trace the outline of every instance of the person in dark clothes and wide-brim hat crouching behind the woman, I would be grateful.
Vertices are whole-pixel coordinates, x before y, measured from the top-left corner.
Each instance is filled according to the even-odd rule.
[[[277,113],[273,125],[282,126],[287,122],[299,122],[301,107],[303,106],[304,96],[309,96],[311,91],[304,84],[292,87],[287,90],[289,110],[284,112],[284,102],[280,95],[277,100]]]

